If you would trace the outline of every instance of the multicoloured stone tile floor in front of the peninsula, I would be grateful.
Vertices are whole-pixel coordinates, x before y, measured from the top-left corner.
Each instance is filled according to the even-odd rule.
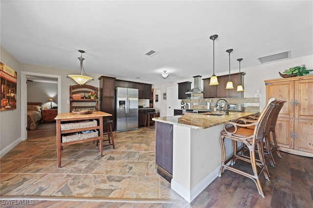
[[[0,195],[183,200],[156,173],[154,127],[113,135],[103,157],[92,141],[64,146],[62,168],[55,136],[22,141],[0,160]]]

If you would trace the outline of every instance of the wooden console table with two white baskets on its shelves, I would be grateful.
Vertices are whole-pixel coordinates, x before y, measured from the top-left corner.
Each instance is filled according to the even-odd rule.
[[[56,120],[56,130],[57,130],[57,136],[56,136],[56,142],[57,142],[57,155],[58,155],[58,162],[59,166],[61,167],[61,148],[66,145],[76,144],[76,143],[82,143],[82,142],[88,142],[92,140],[99,140],[100,141],[100,155],[102,154],[102,143],[103,143],[103,117],[104,116],[112,116],[110,113],[105,113],[101,111],[95,111],[90,114],[83,114],[83,115],[76,115],[74,113],[60,113],[58,114],[54,119]],[[85,127],[74,127],[67,130],[62,130],[61,125],[65,125],[67,123],[75,123],[77,121],[78,123],[83,120],[95,120],[96,125],[93,126],[85,126]],[[73,125],[75,126],[75,125]],[[70,133],[78,133],[82,131],[89,131],[89,130],[95,130],[98,131],[97,136],[94,136],[92,138],[88,139],[76,139],[75,141],[67,141],[62,142],[62,139],[64,139],[65,136],[67,136]],[[83,135],[83,134],[81,134]],[[94,133],[93,133],[94,135]]]

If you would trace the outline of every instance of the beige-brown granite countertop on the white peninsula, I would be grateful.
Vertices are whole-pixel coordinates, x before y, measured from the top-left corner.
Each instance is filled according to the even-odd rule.
[[[192,115],[167,116],[152,118],[153,121],[162,122],[173,125],[180,125],[195,129],[209,128],[215,125],[221,125],[226,122],[236,121],[239,118],[257,115],[257,111],[248,112],[229,112],[229,115],[214,116],[212,113],[199,113]]]

